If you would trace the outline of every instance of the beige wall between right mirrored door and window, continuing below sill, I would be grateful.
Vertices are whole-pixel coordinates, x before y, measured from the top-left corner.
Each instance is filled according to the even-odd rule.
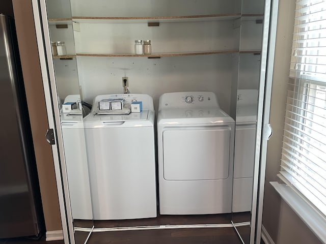
[[[321,243],[292,209],[280,198],[269,181],[276,181],[280,170],[286,89],[290,68],[294,1],[279,0],[270,119],[273,136],[268,141],[263,226],[276,244]]]

